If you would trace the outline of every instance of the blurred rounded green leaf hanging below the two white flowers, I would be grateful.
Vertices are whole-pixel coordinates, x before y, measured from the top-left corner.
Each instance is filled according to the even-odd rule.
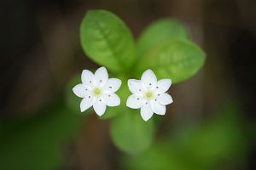
[[[146,150],[154,138],[154,122],[144,122],[136,110],[124,110],[111,122],[113,143],[129,154],[136,155]]]

